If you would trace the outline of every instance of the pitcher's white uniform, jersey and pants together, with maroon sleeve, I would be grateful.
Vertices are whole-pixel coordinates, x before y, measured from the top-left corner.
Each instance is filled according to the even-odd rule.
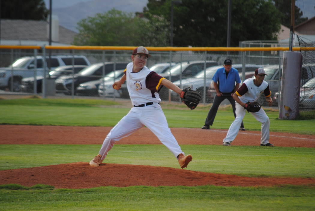
[[[161,89],[163,78],[144,66],[140,72],[132,72],[133,63],[129,63],[125,69],[127,88],[133,105],[129,113],[121,119],[106,136],[99,154],[105,159],[115,142],[129,136],[136,130],[146,126],[177,158],[179,154],[185,154],[171,133],[161,106],[158,91]],[[152,103],[146,105],[147,103]]]

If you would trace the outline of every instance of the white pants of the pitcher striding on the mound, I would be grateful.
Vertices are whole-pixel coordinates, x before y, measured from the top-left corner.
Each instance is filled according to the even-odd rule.
[[[150,129],[154,135],[174,154],[175,158],[182,153],[175,137],[169,129],[167,120],[161,106],[157,103],[145,107],[133,107],[106,136],[99,154],[102,160],[106,158],[114,143],[131,135],[143,126]],[[141,137],[139,137],[141,138]]]

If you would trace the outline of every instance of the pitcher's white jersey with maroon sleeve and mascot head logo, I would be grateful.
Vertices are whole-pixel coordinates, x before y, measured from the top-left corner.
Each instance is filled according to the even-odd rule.
[[[141,105],[148,102],[161,102],[157,93],[161,88],[163,78],[154,71],[144,66],[140,72],[132,72],[133,63],[129,63],[125,69],[127,88],[133,105]]]

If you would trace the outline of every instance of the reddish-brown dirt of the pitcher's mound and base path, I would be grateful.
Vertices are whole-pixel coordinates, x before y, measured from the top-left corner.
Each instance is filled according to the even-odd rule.
[[[0,125],[0,144],[100,144],[110,127],[66,127]],[[180,145],[221,145],[227,130],[171,128]],[[187,137],[186,134],[191,134]],[[315,136],[270,133],[270,142],[280,147],[315,147]],[[117,144],[161,144],[147,128],[136,131]],[[232,145],[259,145],[260,131],[240,131]],[[94,155],[91,155],[94,156]],[[103,175],[103,176],[100,176]],[[106,176],[105,176],[106,175]],[[166,176],[167,175],[167,176]],[[0,184],[33,186],[47,184],[56,188],[91,188],[97,186],[273,186],[315,185],[315,178],[252,178],[212,174],[144,165],[101,164],[92,168],[86,162],[59,164],[0,171]]]

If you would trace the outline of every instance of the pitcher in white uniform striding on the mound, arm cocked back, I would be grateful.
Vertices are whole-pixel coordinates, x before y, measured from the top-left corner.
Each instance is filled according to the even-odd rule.
[[[183,90],[146,67],[146,60],[150,56],[145,47],[135,48],[131,55],[132,62],[124,70],[123,77],[113,84],[113,88],[120,89],[121,85],[127,80],[129,96],[134,107],[106,136],[99,154],[90,161],[90,166],[99,166],[115,142],[129,136],[143,126],[150,129],[173,153],[181,168],[187,167],[188,163],[192,161],[192,156],[185,156],[185,153],[181,150],[171,133],[165,115],[159,105],[161,99],[157,93],[162,86],[166,86],[181,96]]]

